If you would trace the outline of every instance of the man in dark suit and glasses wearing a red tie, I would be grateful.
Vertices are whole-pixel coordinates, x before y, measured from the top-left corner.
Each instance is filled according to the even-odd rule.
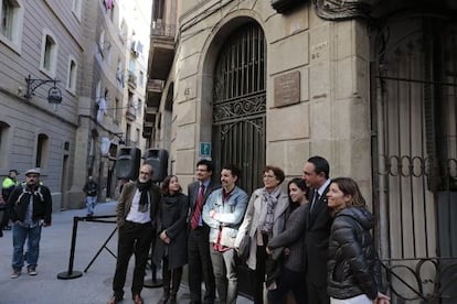
[[[191,304],[202,303],[201,282],[205,284],[204,304],[213,304],[215,298],[215,280],[210,257],[210,228],[202,219],[203,205],[208,196],[219,188],[212,181],[213,162],[201,160],[196,163],[196,182],[189,184],[189,289]]]

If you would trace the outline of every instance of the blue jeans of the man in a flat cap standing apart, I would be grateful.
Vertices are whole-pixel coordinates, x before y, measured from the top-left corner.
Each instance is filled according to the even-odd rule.
[[[20,222],[14,222],[12,229],[13,237],[13,259],[12,268],[21,270],[24,265],[24,243],[28,239],[26,263],[29,267],[36,267],[40,253],[41,225],[33,228],[24,227]]]

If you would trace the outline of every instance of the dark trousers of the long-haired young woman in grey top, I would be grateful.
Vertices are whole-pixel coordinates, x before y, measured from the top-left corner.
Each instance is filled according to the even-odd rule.
[[[276,280],[276,290],[268,291],[268,304],[281,304],[289,291],[293,291],[295,303],[308,303],[306,295],[305,273],[281,268],[281,273]],[[311,303],[311,302],[310,302]]]

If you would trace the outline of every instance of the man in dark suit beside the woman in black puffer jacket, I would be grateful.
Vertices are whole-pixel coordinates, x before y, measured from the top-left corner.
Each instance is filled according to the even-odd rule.
[[[330,166],[321,156],[310,158],[304,167],[302,180],[312,189],[308,204],[305,259],[308,303],[330,303],[327,294],[327,256],[332,218],[327,206]]]

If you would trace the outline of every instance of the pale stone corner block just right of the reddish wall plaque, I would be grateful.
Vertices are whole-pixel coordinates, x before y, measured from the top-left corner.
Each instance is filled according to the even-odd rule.
[[[320,62],[309,67],[310,100],[326,99],[330,96],[330,63]]]

